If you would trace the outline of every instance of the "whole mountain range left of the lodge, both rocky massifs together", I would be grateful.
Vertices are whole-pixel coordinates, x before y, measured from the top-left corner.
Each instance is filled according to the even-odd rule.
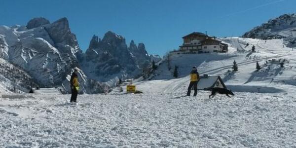
[[[151,59],[160,60],[149,55],[143,43],[137,46],[131,41],[127,47],[124,37],[112,32],[102,40],[94,36],[83,53],[67,18],[53,23],[34,18],[26,26],[0,26],[0,58],[23,69],[36,85],[59,87],[65,93],[70,92],[74,68],[80,70],[84,93],[101,93],[119,78],[142,74]]]

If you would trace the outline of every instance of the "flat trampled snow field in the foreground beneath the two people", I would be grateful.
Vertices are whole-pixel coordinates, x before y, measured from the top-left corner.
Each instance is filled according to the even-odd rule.
[[[0,99],[0,148],[294,148],[295,94]]]

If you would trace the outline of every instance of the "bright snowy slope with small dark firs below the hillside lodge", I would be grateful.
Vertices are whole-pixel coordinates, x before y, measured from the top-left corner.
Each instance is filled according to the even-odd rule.
[[[189,83],[188,74],[192,66],[197,66],[200,74],[220,75],[233,91],[277,93],[295,89],[296,51],[283,47],[283,39],[265,42],[261,39],[227,37],[221,40],[228,43],[228,53],[172,55],[170,64],[173,68],[175,65],[179,67],[179,78],[173,77],[173,68],[168,71],[168,62],[164,59],[154,72],[153,80],[136,82],[137,88],[148,92],[185,93]],[[247,43],[249,46],[246,46]],[[253,45],[256,52],[251,52]],[[235,73],[231,69],[234,60],[238,64],[238,72]],[[279,60],[285,61],[284,68],[280,67]],[[258,72],[257,62],[262,67]]]

